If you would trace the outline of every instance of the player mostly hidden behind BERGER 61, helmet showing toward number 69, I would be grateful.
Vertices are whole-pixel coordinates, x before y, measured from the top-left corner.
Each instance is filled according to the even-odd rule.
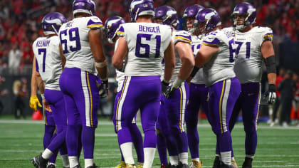
[[[115,43],[115,49],[117,48],[118,38],[119,36],[116,36],[116,31],[119,28],[120,24],[125,23],[125,19],[122,19],[120,16],[113,16],[108,18],[105,21],[105,32],[106,32],[106,38],[109,43]],[[120,91],[122,90],[122,83],[125,80],[125,73],[121,72],[120,70],[115,69],[116,71],[116,80],[117,80],[117,95],[115,97],[115,104],[114,104],[114,114],[113,114],[113,124],[116,126],[116,110],[117,110],[117,102],[120,99],[120,95],[122,94]],[[132,134],[132,142],[135,146],[136,153],[137,153],[137,168],[142,168],[143,162],[144,162],[144,154],[143,154],[143,141],[142,141],[142,135],[140,133],[140,130],[138,129],[136,125],[135,117],[132,120],[131,125],[128,126],[130,128],[130,132]],[[116,127],[115,127],[115,133]],[[122,155],[122,152],[120,150],[120,154]],[[122,161],[119,165],[115,168],[125,168],[125,159],[122,156]]]

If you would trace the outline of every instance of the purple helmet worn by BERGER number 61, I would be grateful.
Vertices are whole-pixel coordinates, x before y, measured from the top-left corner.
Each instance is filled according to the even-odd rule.
[[[135,22],[138,16],[150,15],[154,17],[154,1],[133,0],[130,4],[131,21]]]

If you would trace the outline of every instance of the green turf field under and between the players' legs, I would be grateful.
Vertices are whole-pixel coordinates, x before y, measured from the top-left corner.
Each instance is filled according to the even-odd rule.
[[[95,163],[100,167],[114,167],[120,161],[117,137],[112,122],[100,120],[96,130]],[[243,125],[232,132],[236,162],[241,167],[244,157]],[[209,125],[199,125],[199,154],[204,167],[211,167],[216,138]],[[43,149],[43,122],[30,120],[0,120],[0,167],[33,167],[30,159]],[[81,155],[83,156],[83,155]],[[136,155],[135,155],[136,156]],[[83,164],[83,159],[81,159]],[[156,153],[153,167],[158,167]],[[62,167],[58,155],[57,167]],[[299,128],[280,128],[260,125],[258,148],[253,167],[299,167]]]

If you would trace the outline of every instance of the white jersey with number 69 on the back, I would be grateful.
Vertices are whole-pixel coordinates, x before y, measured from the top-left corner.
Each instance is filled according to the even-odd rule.
[[[80,17],[68,21],[61,26],[58,34],[66,58],[65,67],[80,68],[97,75],[95,58],[88,39],[91,28],[103,28],[103,23],[97,16]]]

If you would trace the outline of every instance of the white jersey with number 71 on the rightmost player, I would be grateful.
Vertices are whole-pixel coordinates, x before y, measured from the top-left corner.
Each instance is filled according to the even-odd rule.
[[[230,28],[232,30],[232,28]],[[272,41],[273,31],[268,27],[256,26],[250,31],[235,31],[236,63],[234,71],[241,83],[261,82],[263,41]]]

